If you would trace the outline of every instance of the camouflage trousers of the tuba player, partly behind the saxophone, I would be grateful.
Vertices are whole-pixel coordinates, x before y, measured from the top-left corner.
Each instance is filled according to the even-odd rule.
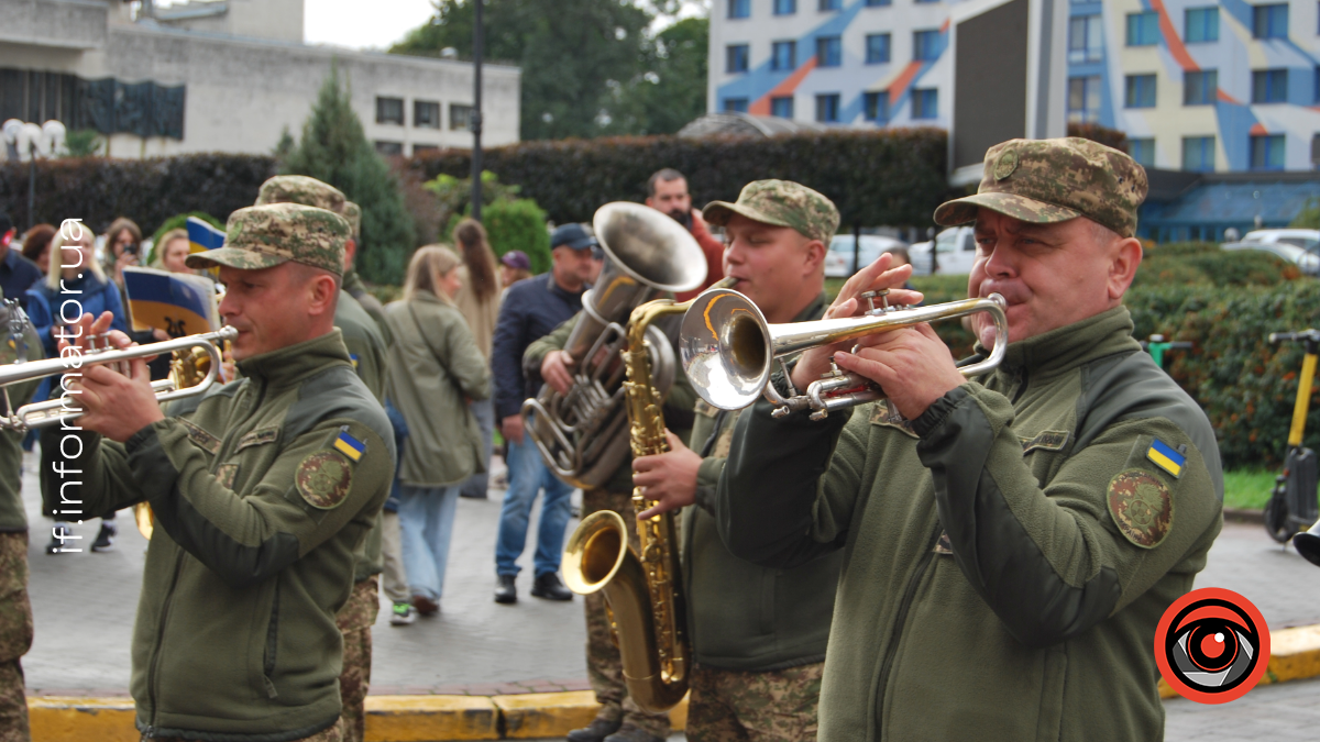
[[[616,495],[606,490],[586,490],[582,492],[582,518],[599,510],[612,510],[628,524],[628,543],[638,548],[636,514],[632,510],[631,495]],[[610,631],[610,619],[605,613],[605,597],[601,593],[586,595],[586,671],[591,679],[591,691],[601,704],[599,718],[631,724],[656,737],[669,735],[669,714],[648,714],[628,697],[623,683],[623,661],[619,647]]]

